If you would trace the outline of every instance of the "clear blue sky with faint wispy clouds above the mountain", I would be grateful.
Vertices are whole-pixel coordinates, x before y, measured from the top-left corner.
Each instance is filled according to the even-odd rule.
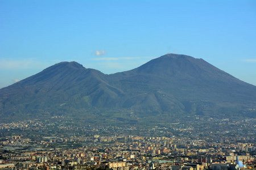
[[[0,0],[0,88],[61,61],[112,74],[167,53],[256,86],[256,1]]]

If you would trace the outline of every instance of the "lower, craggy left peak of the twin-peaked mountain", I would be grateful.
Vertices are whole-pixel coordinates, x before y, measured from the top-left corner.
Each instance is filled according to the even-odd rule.
[[[5,112],[51,113],[70,108],[108,107],[123,92],[107,82],[104,74],[76,62],[61,62],[12,86],[1,89]]]

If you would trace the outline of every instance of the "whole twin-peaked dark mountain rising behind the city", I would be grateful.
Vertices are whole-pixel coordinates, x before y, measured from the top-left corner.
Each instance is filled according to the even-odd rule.
[[[71,114],[106,121],[113,115],[256,118],[255,105],[255,86],[180,54],[110,75],[61,62],[0,90],[0,116],[7,120]]]

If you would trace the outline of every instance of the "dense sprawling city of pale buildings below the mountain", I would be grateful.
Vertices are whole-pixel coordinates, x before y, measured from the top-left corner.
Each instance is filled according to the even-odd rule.
[[[55,116],[0,124],[0,167],[255,169],[255,119],[196,120],[103,126]]]

